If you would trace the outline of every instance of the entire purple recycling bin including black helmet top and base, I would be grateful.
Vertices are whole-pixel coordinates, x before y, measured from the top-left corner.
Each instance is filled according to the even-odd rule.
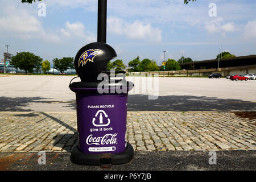
[[[75,57],[75,68],[81,78],[69,88],[76,94],[79,145],[71,154],[75,164],[123,164],[133,159],[133,147],[127,142],[127,96],[133,83],[126,81],[125,72],[106,69],[116,57],[106,43],[90,43]],[[122,78],[115,79],[117,73]],[[113,79],[112,79],[113,78]]]

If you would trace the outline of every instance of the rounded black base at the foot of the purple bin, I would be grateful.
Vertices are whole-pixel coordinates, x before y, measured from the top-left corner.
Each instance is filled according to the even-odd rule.
[[[126,150],[118,154],[86,154],[81,152],[77,145],[73,148],[70,160],[74,164],[86,166],[118,165],[131,162],[133,156],[133,146],[128,142]]]

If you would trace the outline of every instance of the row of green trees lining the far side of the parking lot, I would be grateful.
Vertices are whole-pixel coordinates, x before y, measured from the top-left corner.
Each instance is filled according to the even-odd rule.
[[[230,52],[221,52],[216,56],[216,59],[225,59],[229,57],[236,57],[232,55]],[[52,61],[53,68],[57,69],[61,73],[63,73],[68,68],[74,69],[74,58],[73,57],[63,57],[62,59],[55,58]],[[194,69],[194,61],[190,57],[182,56],[179,60],[167,59],[165,69],[163,65],[158,66],[155,60],[143,59],[142,61],[137,56],[134,60],[129,61],[129,72],[151,72],[151,71],[177,71],[180,70],[180,64],[182,63],[191,63],[191,68]],[[43,61],[43,59],[39,56],[34,55],[31,52],[17,52],[15,56],[12,57],[10,64],[13,65],[16,69],[23,69],[26,74],[27,72],[34,72],[34,69],[38,73],[40,69],[47,73],[51,67],[48,60]],[[115,69],[115,71],[123,71],[125,70],[125,64],[123,64],[122,60],[115,60],[113,62],[109,61],[107,64],[107,68]]]

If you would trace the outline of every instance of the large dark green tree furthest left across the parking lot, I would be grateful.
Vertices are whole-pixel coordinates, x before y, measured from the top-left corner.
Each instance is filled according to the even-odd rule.
[[[43,59],[39,56],[34,55],[31,52],[17,52],[15,56],[12,57],[10,62],[15,68],[23,69],[26,74],[27,71],[32,73],[33,69],[40,69]]]

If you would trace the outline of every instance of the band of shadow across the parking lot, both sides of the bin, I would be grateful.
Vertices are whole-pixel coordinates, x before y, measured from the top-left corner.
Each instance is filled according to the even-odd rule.
[[[43,97],[0,97],[0,111],[33,111],[28,106],[33,103],[51,104]],[[76,110],[76,101],[60,101],[63,107]],[[148,100],[148,95],[133,94],[128,97],[128,111],[255,111],[256,103],[237,99],[222,99],[205,96],[159,96]]]

